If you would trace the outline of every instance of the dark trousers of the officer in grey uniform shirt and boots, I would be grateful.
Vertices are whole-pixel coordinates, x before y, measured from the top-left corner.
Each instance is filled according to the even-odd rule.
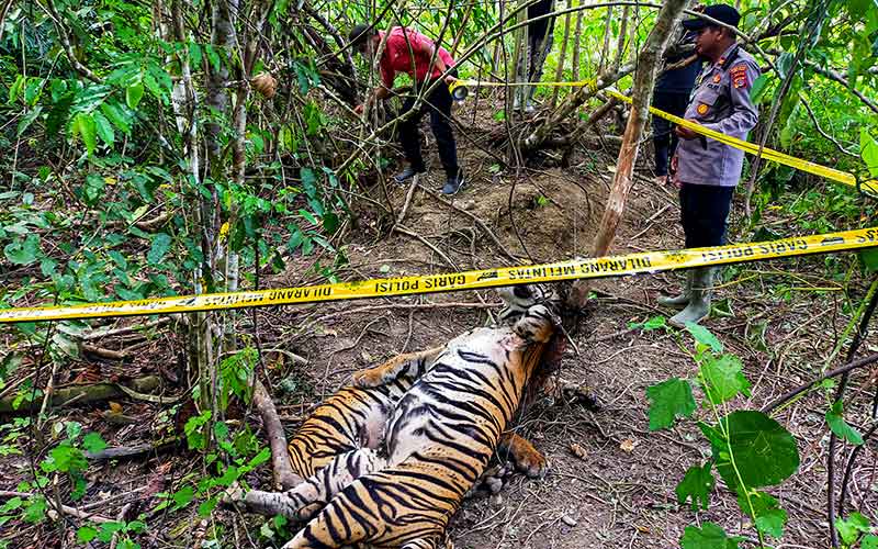
[[[687,248],[725,244],[725,221],[734,187],[683,183],[679,211]]]

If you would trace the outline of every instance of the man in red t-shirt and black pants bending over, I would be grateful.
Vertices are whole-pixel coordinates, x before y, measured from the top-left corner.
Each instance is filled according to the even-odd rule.
[[[375,52],[384,38],[384,31],[378,31],[372,25],[357,25],[348,34],[352,47],[368,59],[374,58]],[[414,57],[414,59],[413,59]],[[437,46],[430,38],[419,32],[404,26],[394,26],[390,31],[384,52],[379,61],[381,67],[381,86],[375,88],[367,102],[386,99],[391,94],[393,81],[397,72],[405,72],[415,82],[415,94],[408,97],[403,103],[403,113],[412,111],[417,99],[418,90],[429,90],[437,80],[432,91],[426,93],[420,105],[415,112],[406,116],[398,125],[399,144],[405,152],[408,166],[394,176],[396,182],[402,183],[427,170],[424,157],[420,154],[420,133],[418,125],[427,112],[430,113],[430,128],[436,136],[439,148],[439,158],[448,177],[442,192],[455,194],[463,187],[463,172],[458,166],[458,149],[454,143],[454,133],[451,131],[451,104],[453,102],[449,85],[457,80],[455,63],[441,46]],[[362,112],[363,104],[357,107],[357,112]]]

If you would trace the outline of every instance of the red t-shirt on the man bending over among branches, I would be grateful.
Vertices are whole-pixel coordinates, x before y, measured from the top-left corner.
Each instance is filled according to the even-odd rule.
[[[379,37],[384,38],[384,32],[379,31]],[[406,37],[408,38],[406,41]],[[409,49],[409,44],[412,49]],[[391,29],[391,35],[387,36],[387,43],[384,46],[384,53],[381,56],[381,79],[387,88],[393,87],[393,80],[396,72],[405,72],[418,82],[423,82],[427,78],[427,69],[430,68],[430,60],[432,57],[420,51],[424,45],[436,46],[434,42],[427,36],[420,34],[414,29],[406,29],[404,26],[394,26]],[[438,46],[440,57],[447,67],[454,66],[454,59],[442,46]],[[412,70],[412,55],[415,53],[415,71]],[[430,71],[430,78],[438,78],[442,72],[435,66]]]

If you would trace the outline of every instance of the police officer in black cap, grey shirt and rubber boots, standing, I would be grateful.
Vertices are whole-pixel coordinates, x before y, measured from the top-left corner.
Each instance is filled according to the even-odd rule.
[[[738,10],[725,4],[709,5],[703,14],[732,27],[741,20]],[[686,120],[746,139],[747,132],[758,121],[758,111],[750,100],[750,89],[759,76],[756,60],[741,48],[735,34],[725,26],[700,18],[686,20],[683,26],[697,33],[696,53],[707,60],[686,109]],[[725,221],[741,178],[744,152],[682,126],[677,126],[676,133],[680,142],[672,164],[676,165],[674,182],[679,188],[686,247],[721,246],[725,244]],[[691,269],[684,292],[660,298],[658,303],[685,306],[671,318],[672,325],[698,323],[710,312],[712,287],[713,268]]]

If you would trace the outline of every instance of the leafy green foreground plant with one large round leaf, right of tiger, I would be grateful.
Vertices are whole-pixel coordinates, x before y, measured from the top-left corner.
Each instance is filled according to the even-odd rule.
[[[716,486],[712,469],[738,494],[742,513],[750,516],[759,539],[780,537],[787,514],[776,498],[755,490],[773,486],[792,475],[799,468],[799,451],[792,435],[762,412],[739,410],[722,413],[722,408],[739,395],[750,396],[750,381],[743,373],[741,359],[723,352],[722,343],[707,328],[686,326],[693,337],[690,351],[698,366],[697,382],[703,391],[701,404],[710,411],[716,423],[698,422],[710,445],[711,459],[693,466],[677,484],[677,503],[690,503],[693,511],[707,509]],[[677,334],[677,333],[675,333]],[[685,345],[680,346],[686,349]],[[688,350],[688,349],[687,349]],[[646,389],[650,405],[650,429],[672,426],[677,415],[689,417],[697,404],[688,380],[671,380]],[[717,525],[687,527],[680,545],[685,548],[738,547],[740,538],[729,538]]]

